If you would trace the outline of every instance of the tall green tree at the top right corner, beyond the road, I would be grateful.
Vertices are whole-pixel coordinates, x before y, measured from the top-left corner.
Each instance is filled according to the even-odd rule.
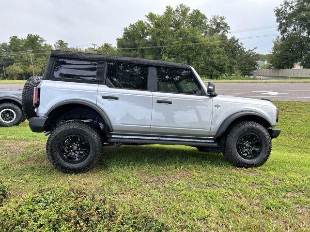
[[[274,41],[270,62],[275,68],[292,68],[301,62],[310,68],[310,1],[284,0],[275,9],[280,37]]]

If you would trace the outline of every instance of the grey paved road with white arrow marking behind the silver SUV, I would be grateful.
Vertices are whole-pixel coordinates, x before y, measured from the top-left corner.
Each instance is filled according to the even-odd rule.
[[[217,83],[216,92],[246,98],[310,102],[310,83]],[[23,84],[0,84],[0,88],[22,89]]]

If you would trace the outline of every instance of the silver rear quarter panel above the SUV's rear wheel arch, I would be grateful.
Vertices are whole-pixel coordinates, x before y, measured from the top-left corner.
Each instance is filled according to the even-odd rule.
[[[42,80],[40,83],[40,105],[37,116],[46,116],[54,105],[67,100],[82,100],[97,103],[98,84]]]

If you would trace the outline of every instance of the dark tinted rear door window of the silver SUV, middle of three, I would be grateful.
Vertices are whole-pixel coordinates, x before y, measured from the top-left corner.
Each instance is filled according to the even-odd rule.
[[[107,82],[116,88],[147,89],[148,67],[108,63]]]

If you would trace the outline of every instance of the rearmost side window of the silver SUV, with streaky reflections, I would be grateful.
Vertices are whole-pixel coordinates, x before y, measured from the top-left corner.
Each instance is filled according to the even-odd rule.
[[[57,59],[54,77],[94,81],[97,65],[93,61]]]

